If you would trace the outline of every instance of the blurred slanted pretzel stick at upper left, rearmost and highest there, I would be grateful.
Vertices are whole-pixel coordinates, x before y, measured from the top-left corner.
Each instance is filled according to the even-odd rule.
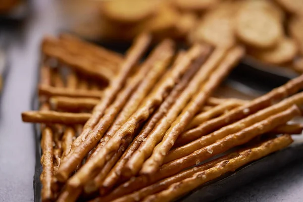
[[[122,55],[110,51],[104,47],[96,46],[93,43],[87,43],[76,36],[70,34],[60,34],[60,39],[65,42],[72,43],[75,45],[74,47],[84,48],[86,52],[93,54],[95,57],[99,57],[117,64],[123,62]]]

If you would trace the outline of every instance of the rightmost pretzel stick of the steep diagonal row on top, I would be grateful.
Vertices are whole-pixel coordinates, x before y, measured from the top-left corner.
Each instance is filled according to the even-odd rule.
[[[144,162],[141,173],[152,174],[159,169],[179,134],[185,130],[187,124],[190,123],[198,110],[205,105],[206,100],[240,61],[243,55],[243,47],[235,47],[230,50],[219,67],[210,75],[209,80],[206,81],[201,91],[190,100],[182,113],[172,123],[162,141],[154,148],[153,154]]]

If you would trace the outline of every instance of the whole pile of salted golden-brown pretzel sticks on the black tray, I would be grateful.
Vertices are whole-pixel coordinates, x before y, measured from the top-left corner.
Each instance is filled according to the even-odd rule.
[[[40,110],[22,113],[41,123],[42,201],[171,201],[302,132],[290,121],[301,115],[303,76],[253,100],[213,97],[241,46],[178,50],[164,39],[142,60],[148,33],[125,56],[51,39],[42,41]]]

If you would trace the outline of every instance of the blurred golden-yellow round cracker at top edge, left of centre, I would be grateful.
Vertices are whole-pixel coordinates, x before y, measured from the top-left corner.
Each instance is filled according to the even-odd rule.
[[[145,20],[157,12],[159,1],[119,0],[103,2],[102,15],[120,23],[136,23]]]

